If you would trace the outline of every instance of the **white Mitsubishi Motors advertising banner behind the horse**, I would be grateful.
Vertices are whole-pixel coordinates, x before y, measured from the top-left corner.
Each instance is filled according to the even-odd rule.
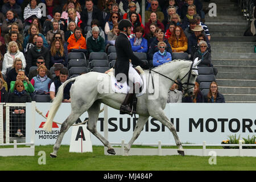
[[[36,107],[47,114],[50,103],[36,103]],[[101,108],[103,104],[101,105]],[[26,115],[26,142],[30,142],[30,108],[31,104],[27,104]],[[247,138],[256,133],[256,104],[192,104],[192,103],[175,103],[167,104],[164,113],[170,119],[177,131],[177,135],[182,143],[221,143],[222,140],[228,139],[229,135],[236,134]],[[156,108],[157,109],[157,108]],[[64,122],[71,113],[71,105],[67,103],[61,104],[56,113],[54,121]],[[84,122],[88,119],[88,113],[84,113],[76,121],[76,123]],[[53,123],[51,133],[43,130],[43,123],[46,121],[36,113],[36,129],[35,129],[35,144],[45,145],[54,144],[59,135],[60,125]],[[121,140],[129,142],[133,135],[133,131],[138,121],[136,118],[131,118],[130,115],[120,115],[119,110],[108,107],[108,140],[109,142],[121,143]],[[97,122],[98,132],[104,136],[104,111],[100,113]],[[71,140],[70,128],[65,134],[61,144],[70,144]],[[100,140],[90,134],[93,145],[102,145]],[[170,130],[167,129],[161,122],[154,118],[148,118],[148,122],[144,126],[141,134],[134,143],[158,143],[163,144],[175,143],[174,137]]]

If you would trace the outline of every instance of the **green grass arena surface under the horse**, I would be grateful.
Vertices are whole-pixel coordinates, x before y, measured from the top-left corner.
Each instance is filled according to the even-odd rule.
[[[9,146],[10,147],[10,146]],[[133,146],[138,147],[138,146]],[[144,147],[144,146],[143,146]],[[35,146],[35,156],[0,156],[0,171],[255,171],[256,158],[220,157],[210,165],[210,156],[115,156],[104,155],[103,146],[93,146],[93,152],[70,153],[61,146],[52,159],[52,145]],[[184,147],[185,148],[185,147]],[[228,150],[228,149],[227,149]],[[39,151],[46,152],[46,164],[38,164]]]

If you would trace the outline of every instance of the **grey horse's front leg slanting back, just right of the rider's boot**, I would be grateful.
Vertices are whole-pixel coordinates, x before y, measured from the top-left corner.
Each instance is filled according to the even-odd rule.
[[[144,125],[146,124],[148,119],[147,117],[143,117],[143,116],[139,116],[138,121],[136,123],[134,132],[133,132],[133,137],[131,138],[130,142],[127,143],[127,145],[125,146],[125,155],[128,155],[128,152],[131,148],[131,146],[133,145],[133,142],[139,137],[139,134],[141,134],[141,131],[144,127]]]

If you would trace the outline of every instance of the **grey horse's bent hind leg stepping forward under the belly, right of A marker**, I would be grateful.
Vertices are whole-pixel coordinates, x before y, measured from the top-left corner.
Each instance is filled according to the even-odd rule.
[[[108,153],[109,154],[115,154],[114,148],[110,145],[109,141],[106,140],[100,133],[97,131],[97,121],[98,121],[98,114],[100,114],[100,106],[101,102],[95,101],[93,105],[88,109],[88,123],[87,123],[87,129],[101,142],[104,144],[104,146],[108,147]]]

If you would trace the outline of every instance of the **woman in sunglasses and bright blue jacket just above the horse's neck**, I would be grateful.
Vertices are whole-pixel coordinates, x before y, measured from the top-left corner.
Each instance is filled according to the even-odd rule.
[[[172,60],[172,55],[170,52],[166,51],[166,43],[159,42],[158,43],[158,52],[154,53],[153,56],[153,66],[158,67],[164,63],[170,62]]]

